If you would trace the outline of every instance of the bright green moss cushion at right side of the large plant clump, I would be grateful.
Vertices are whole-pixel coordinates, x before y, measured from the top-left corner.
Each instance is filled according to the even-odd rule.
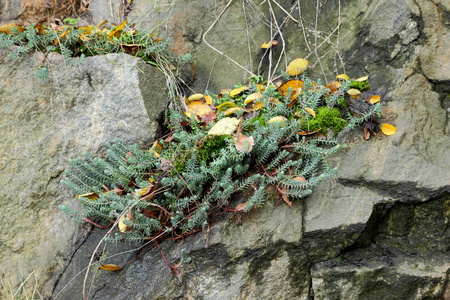
[[[328,129],[331,129],[334,134],[338,134],[347,126],[347,121],[341,118],[341,113],[338,108],[329,108],[328,106],[319,107],[316,118],[305,123],[303,130],[316,131],[320,130],[322,134],[327,134]]]

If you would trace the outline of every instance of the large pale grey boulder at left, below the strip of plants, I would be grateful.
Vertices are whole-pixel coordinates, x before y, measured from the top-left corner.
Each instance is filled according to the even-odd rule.
[[[117,137],[151,142],[167,96],[162,73],[128,55],[74,60],[70,68],[50,55],[47,82],[33,74],[40,59],[1,54],[0,265],[5,285],[33,274],[27,287],[46,283],[48,295],[79,235],[57,208],[77,204],[59,183],[68,160],[103,155]]]

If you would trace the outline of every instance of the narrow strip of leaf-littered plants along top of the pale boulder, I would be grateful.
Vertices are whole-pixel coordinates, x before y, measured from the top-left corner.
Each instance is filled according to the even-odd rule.
[[[127,27],[127,21],[108,26],[107,21],[97,25],[77,26],[79,19],[66,19],[63,24],[32,24],[23,27],[15,24],[0,26],[0,48],[10,50],[11,59],[19,58],[32,51],[39,51],[44,58],[39,62],[35,75],[42,80],[49,78],[50,66],[46,63],[49,53],[63,56],[65,66],[71,67],[72,59],[126,53],[156,66],[166,76],[169,97],[174,100],[180,95],[180,80],[176,72],[179,64],[190,62],[190,55],[173,55],[168,50],[167,40],[151,32],[138,31]],[[179,109],[179,103],[172,101]]]

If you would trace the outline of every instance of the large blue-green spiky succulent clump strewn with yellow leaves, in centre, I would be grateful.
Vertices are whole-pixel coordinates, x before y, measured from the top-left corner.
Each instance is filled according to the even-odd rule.
[[[363,113],[340,104],[354,99],[349,87],[349,80],[326,87],[303,73],[279,87],[253,78],[218,95],[191,95],[183,114],[168,113],[170,132],[150,149],[116,140],[106,159],[71,161],[62,183],[82,210],[61,209],[79,222],[116,222],[110,241],[142,241],[182,238],[216,214],[250,212],[264,205],[269,187],[290,206],[336,174],[328,159],[345,145],[317,130],[379,120],[379,103],[368,102]],[[243,193],[250,196],[230,207]]]

